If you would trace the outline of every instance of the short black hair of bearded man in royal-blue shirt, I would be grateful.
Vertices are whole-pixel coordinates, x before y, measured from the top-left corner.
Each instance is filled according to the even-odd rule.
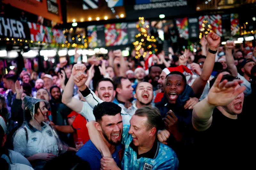
[[[100,122],[102,120],[102,116],[109,115],[115,116],[116,114],[121,114],[122,108],[113,102],[102,102],[97,104],[93,108],[93,115],[95,117],[96,122]]]

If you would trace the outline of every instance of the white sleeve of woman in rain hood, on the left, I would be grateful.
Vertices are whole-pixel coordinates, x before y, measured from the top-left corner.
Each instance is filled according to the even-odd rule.
[[[13,150],[25,156],[27,150],[26,132],[21,127],[13,138]]]

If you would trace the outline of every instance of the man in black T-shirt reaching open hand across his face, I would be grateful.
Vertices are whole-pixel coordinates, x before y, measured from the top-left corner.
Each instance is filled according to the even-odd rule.
[[[198,131],[195,140],[198,148],[194,155],[195,161],[200,161],[197,166],[202,169],[251,167],[247,168],[253,162],[248,159],[251,157],[248,152],[255,146],[255,143],[250,145],[250,136],[255,131],[248,136],[247,131],[251,129],[244,127],[238,117],[244,103],[245,87],[239,85],[242,82],[237,77],[220,73],[211,80],[208,96],[194,107],[192,124]]]

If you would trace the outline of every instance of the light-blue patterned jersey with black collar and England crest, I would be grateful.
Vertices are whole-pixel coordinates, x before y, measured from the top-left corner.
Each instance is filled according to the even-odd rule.
[[[124,170],[155,170],[171,169],[176,170],[179,167],[179,161],[176,153],[167,145],[164,145],[156,139],[152,149],[147,153],[138,155],[138,148],[133,145],[132,135],[128,133],[130,125],[124,125],[123,141],[124,157],[122,160],[122,169]],[[137,158],[137,155],[139,158]]]

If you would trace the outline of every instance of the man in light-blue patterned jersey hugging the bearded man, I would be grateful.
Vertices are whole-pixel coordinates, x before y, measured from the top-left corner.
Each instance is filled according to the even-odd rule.
[[[125,154],[122,169],[178,169],[179,161],[175,152],[157,140],[157,131],[162,118],[156,108],[146,106],[136,110],[130,120],[131,125],[124,125],[123,140]],[[99,138],[99,133],[87,123],[92,142],[103,154],[102,169],[119,169],[110,155],[108,148]]]

